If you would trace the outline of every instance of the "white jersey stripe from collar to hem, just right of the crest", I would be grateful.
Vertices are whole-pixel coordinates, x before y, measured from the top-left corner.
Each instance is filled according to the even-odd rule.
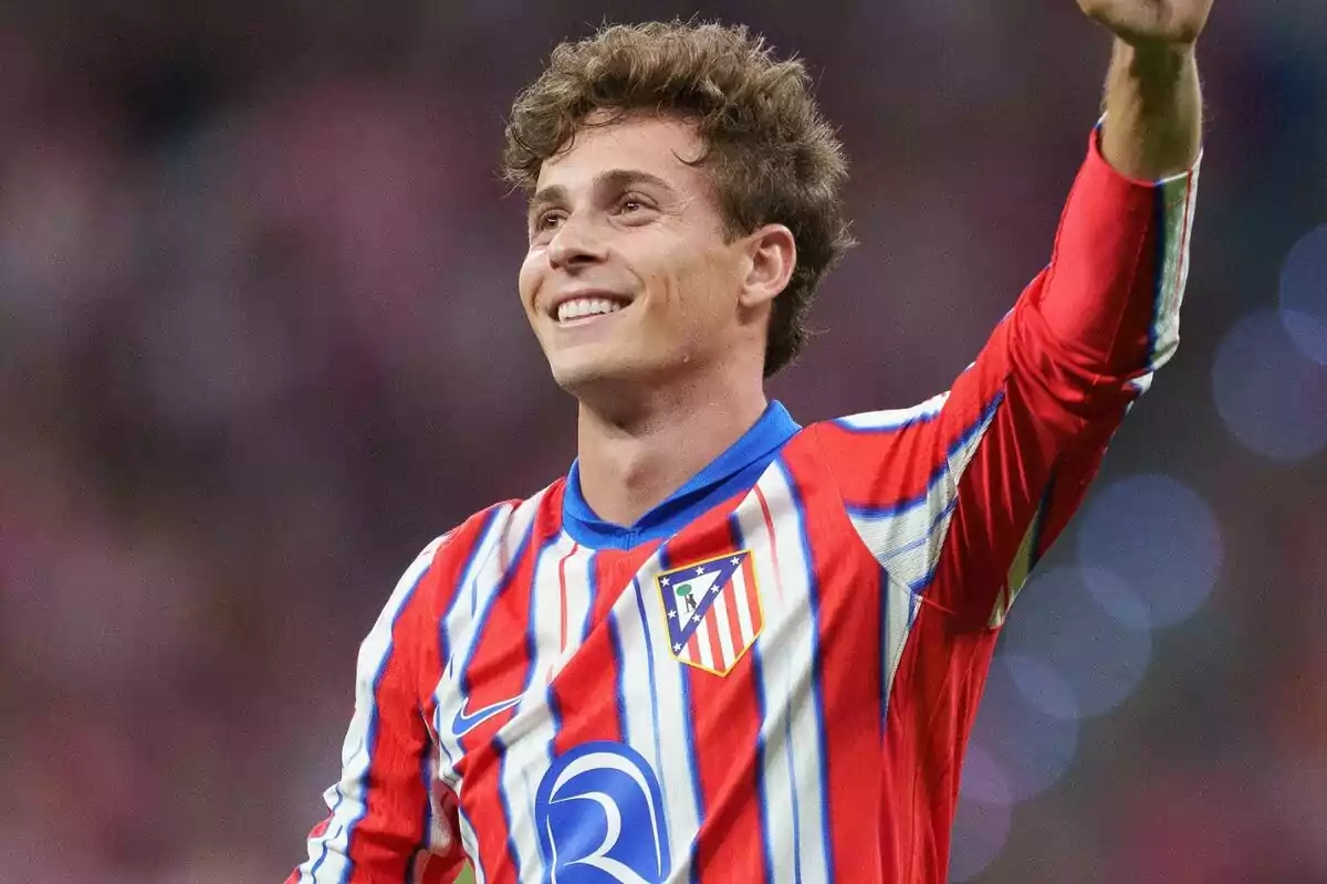
[[[736,512],[742,546],[751,550],[758,579],[776,578],[780,569],[791,575],[783,583],[782,598],[768,591],[762,598],[764,627],[755,645],[766,713],[760,722],[766,746],[762,811],[771,840],[767,851],[774,860],[774,884],[796,880],[795,855],[800,855],[800,881],[809,884],[829,877],[823,838],[828,793],[820,763],[820,708],[811,683],[812,643],[805,640],[807,630],[813,628],[808,623],[811,582],[803,577],[809,577],[811,562],[805,558],[802,518],[782,465],[766,470],[758,488],[770,506],[775,533],[767,527],[752,493]],[[775,567],[775,557],[780,569]]]

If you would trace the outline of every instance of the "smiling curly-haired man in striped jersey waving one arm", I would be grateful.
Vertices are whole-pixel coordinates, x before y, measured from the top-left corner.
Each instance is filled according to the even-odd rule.
[[[800,64],[744,29],[564,44],[516,101],[520,300],[579,456],[406,571],[292,881],[943,881],[999,627],[1177,343],[1210,0],[1115,33],[1047,269],[916,408],[764,395],[849,245]]]

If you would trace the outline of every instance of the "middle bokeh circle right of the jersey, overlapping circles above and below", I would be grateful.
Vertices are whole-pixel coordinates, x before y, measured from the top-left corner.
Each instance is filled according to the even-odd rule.
[[[1034,577],[1019,594],[1016,624],[1006,628],[1005,651],[1022,660],[1014,679],[1020,692],[1043,691],[1030,700],[1038,709],[1063,708],[1059,681],[1031,675],[1027,660],[1039,661],[1067,683],[1079,716],[1099,716],[1117,706],[1147,671],[1152,635],[1147,630],[1104,616],[1095,592],[1129,591],[1119,578],[1085,569],[1060,567]],[[1013,673],[1011,673],[1013,677]],[[1026,694],[1024,694],[1026,696]]]

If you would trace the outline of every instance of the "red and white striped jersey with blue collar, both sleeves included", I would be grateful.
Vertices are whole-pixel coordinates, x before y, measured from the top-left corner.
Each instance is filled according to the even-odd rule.
[[[1006,612],[1176,347],[1196,170],[1095,139],[953,388],[778,403],[636,525],[577,470],[431,543],[358,657],[291,881],[943,881]]]

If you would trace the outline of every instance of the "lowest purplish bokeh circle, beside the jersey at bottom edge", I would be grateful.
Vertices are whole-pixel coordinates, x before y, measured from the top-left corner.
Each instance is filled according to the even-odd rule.
[[[979,742],[971,742],[958,787],[949,880],[971,880],[999,856],[1009,838],[1011,804],[1009,778],[999,762]]]

